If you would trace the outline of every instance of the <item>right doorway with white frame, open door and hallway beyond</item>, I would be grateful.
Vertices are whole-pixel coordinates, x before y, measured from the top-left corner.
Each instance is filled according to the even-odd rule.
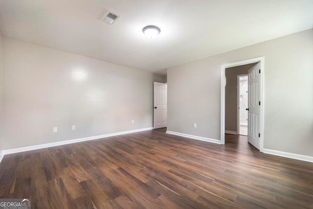
[[[221,110],[221,144],[225,134],[246,135],[263,152],[264,57],[221,66]]]

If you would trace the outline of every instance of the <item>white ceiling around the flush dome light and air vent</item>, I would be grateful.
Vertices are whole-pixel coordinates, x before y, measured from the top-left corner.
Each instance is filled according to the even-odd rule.
[[[313,0],[0,0],[4,36],[158,74],[312,27]]]

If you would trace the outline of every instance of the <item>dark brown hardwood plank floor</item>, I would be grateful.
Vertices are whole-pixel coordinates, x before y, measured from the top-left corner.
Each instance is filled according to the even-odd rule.
[[[313,163],[157,129],[4,156],[0,197],[34,209],[313,208]]]

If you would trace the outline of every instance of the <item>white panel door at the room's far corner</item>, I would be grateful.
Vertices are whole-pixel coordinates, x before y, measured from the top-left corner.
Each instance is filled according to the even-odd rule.
[[[154,82],[154,128],[166,127],[167,84]]]

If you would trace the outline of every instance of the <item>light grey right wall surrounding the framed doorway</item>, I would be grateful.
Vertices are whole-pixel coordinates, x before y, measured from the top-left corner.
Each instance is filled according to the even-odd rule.
[[[168,68],[168,130],[220,140],[221,65],[261,56],[264,148],[313,156],[313,29]]]

